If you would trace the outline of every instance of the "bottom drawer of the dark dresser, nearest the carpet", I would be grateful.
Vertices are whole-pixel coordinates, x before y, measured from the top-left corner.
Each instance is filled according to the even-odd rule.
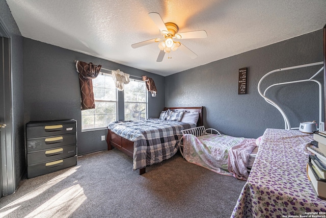
[[[77,157],[68,157],[64,159],[57,159],[50,162],[42,162],[28,165],[27,177],[33,178],[44,174],[60,171],[61,169],[75,166],[77,164]]]

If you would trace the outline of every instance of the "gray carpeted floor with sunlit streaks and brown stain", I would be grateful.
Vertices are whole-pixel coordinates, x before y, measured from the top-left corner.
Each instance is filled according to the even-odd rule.
[[[179,153],[140,176],[132,159],[113,149],[23,180],[0,199],[0,217],[230,217],[243,185]]]

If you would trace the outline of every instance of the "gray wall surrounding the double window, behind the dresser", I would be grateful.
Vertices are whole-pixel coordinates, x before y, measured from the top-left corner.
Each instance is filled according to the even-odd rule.
[[[101,141],[101,135],[106,138],[107,130],[81,130],[80,88],[74,60],[153,78],[158,93],[155,98],[149,94],[149,117],[158,117],[165,107],[165,78],[162,76],[28,38],[23,39],[23,59],[25,123],[76,119],[79,155],[107,149],[106,141]]]

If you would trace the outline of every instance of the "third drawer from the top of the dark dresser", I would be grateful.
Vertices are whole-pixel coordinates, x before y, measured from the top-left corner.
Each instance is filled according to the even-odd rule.
[[[49,162],[55,159],[75,156],[77,154],[76,144],[66,147],[58,147],[53,149],[39,150],[27,154],[27,164],[40,162]]]

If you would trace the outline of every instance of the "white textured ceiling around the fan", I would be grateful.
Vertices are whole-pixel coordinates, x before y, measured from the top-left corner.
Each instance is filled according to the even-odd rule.
[[[320,30],[325,0],[7,0],[22,36],[168,76],[259,47]],[[161,37],[148,13],[174,22],[179,33],[205,30],[207,38],[181,39],[195,52],[165,55],[157,43],[131,44]],[[87,61],[87,60],[85,60]],[[108,66],[109,67],[109,66]]]

